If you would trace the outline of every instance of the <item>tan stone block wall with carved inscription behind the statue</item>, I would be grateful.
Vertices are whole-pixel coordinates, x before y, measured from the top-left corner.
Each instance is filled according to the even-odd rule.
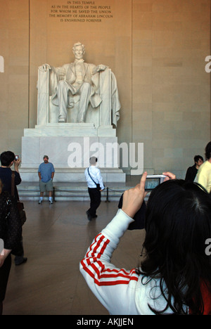
[[[210,0],[0,0],[1,151],[37,124],[37,68],[73,60],[115,73],[119,143],[143,143],[148,172],[183,177],[210,141]],[[103,8],[107,7],[107,8]],[[2,63],[2,61],[1,61]],[[2,65],[2,64],[1,64]],[[129,167],[123,168],[129,173]]]

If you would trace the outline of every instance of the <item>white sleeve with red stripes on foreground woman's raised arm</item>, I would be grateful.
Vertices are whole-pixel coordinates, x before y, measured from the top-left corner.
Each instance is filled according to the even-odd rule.
[[[132,221],[119,209],[110,224],[96,236],[80,263],[80,271],[89,288],[110,314],[138,314],[135,290],[139,276],[136,270],[117,269],[110,263],[120,238]]]

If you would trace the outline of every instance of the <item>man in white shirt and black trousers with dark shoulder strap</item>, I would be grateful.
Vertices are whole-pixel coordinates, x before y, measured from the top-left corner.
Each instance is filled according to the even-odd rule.
[[[96,209],[98,209],[101,204],[101,191],[104,190],[103,178],[101,176],[101,170],[96,167],[97,163],[96,157],[90,157],[90,166],[85,170],[85,177],[87,180],[87,186],[90,197],[90,208],[87,210],[87,217],[89,221],[96,218]],[[97,187],[99,184],[99,188]]]

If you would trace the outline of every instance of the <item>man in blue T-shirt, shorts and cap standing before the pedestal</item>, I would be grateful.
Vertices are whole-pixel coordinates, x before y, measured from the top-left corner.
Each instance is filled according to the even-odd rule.
[[[38,176],[39,176],[39,190],[40,190],[40,197],[39,197],[39,205],[43,202],[44,192],[49,192],[49,202],[53,203],[53,176],[55,169],[53,164],[49,162],[48,155],[44,155],[43,157],[44,162],[39,164],[38,169]]]

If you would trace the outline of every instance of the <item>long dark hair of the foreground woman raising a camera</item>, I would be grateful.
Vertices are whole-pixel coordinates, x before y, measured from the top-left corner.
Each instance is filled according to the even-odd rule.
[[[205,241],[211,238],[211,199],[202,187],[183,180],[165,181],[155,188],[146,208],[146,258],[142,283],[160,279],[167,301],[163,314],[203,314],[201,285],[211,293],[211,262]],[[151,307],[150,307],[151,308]]]

